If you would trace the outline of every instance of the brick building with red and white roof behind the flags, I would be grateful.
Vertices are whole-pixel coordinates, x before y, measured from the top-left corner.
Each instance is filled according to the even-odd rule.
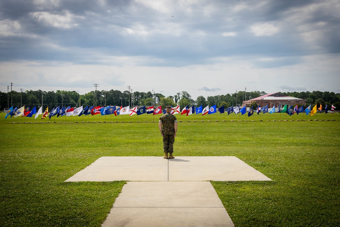
[[[244,105],[246,107],[249,107],[252,102],[256,102],[261,107],[264,107],[268,104],[268,108],[273,108],[274,104],[276,108],[278,108],[278,105],[281,105],[281,108],[283,108],[283,106],[285,106],[286,104],[293,106],[295,106],[296,104],[306,106],[306,99],[290,97],[280,93],[272,93],[243,101],[242,107]]]

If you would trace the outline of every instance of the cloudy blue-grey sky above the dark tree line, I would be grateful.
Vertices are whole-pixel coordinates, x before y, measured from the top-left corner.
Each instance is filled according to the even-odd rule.
[[[339,0],[1,0],[0,91],[340,93]]]

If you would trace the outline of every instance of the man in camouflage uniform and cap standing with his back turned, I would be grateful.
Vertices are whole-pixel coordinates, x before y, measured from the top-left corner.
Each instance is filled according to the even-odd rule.
[[[177,118],[172,115],[171,107],[166,107],[166,114],[159,118],[158,128],[163,136],[164,158],[173,159],[173,143],[175,142],[177,132]],[[163,127],[162,127],[163,126]],[[168,157],[168,152],[170,153]]]

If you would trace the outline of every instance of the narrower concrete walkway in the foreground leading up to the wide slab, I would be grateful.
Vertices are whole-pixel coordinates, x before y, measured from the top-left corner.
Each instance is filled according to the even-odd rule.
[[[210,182],[128,182],[102,224],[234,226]]]

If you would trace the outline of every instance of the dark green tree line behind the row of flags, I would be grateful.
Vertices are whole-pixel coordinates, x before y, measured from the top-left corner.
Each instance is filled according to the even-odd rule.
[[[334,92],[279,92],[281,94],[292,96],[296,98],[306,99],[306,103],[322,104],[334,104],[340,107],[340,94],[335,94]],[[216,95],[208,96],[207,98],[203,96],[198,96],[196,100],[191,98],[191,95],[186,92],[178,92],[173,96],[165,97],[160,93],[152,92],[129,92],[129,91],[91,91],[85,93],[85,95],[79,95],[75,91],[25,91],[16,92],[12,91],[4,93],[0,91],[0,109],[8,108],[13,106],[41,106],[41,101],[43,99],[44,106],[175,106],[180,105],[185,107],[187,105],[192,106],[203,106],[207,105],[217,107],[237,106],[242,105],[245,100],[257,98],[262,95],[266,95],[265,92],[253,91],[245,92],[239,91],[233,94],[226,95]]]

